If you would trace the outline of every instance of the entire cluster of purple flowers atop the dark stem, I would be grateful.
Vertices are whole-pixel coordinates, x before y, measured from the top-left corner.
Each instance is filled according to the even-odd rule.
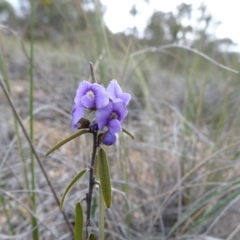
[[[116,133],[122,131],[121,123],[128,114],[127,105],[131,95],[123,93],[116,80],[112,80],[105,89],[97,83],[83,81],[79,84],[72,111],[72,129],[78,129],[85,110],[95,111],[92,121],[95,130],[104,130],[102,143],[112,145],[116,142]]]

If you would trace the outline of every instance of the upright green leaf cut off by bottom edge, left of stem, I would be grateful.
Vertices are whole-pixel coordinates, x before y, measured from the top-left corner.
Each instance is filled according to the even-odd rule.
[[[83,210],[80,202],[75,207],[75,227],[74,227],[74,240],[82,240],[83,236]]]

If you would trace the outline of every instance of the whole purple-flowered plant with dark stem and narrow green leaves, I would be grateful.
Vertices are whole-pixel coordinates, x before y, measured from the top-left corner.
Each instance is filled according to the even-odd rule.
[[[92,69],[91,69],[92,70]],[[109,85],[104,86],[96,83],[95,76],[92,70],[92,78],[94,83],[86,80],[82,81],[76,91],[74,98],[74,106],[72,109],[72,124],[73,130],[77,130],[68,138],[62,140],[52,147],[46,155],[64,145],[65,143],[79,137],[83,134],[90,133],[93,136],[92,157],[90,167],[79,171],[77,175],[67,185],[60,202],[60,208],[63,208],[67,193],[79,179],[89,172],[88,192],[83,200],[86,201],[86,239],[94,239],[94,234],[91,230],[91,202],[92,193],[95,184],[99,185],[99,197],[101,197],[107,208],[112,204],[112,188],[110,178],[110,168],[106,151],[103,146],[114,145],[117,141],[117,134],[124,132],[133,138],[133,135],[122,127],[123,121],[128,114],[128,103],[131,95],[124,93],[116,80],[110,81]],[[93,118],[86,117],[87,112],[93,113]],[[100,207],[102,204],[100,204]],[[100,210],[100,212],[102,212]],[[100,239],[104,238],[104,217],[99,218]],[[75,209],[75,239],[83,238],[83,208],[80,202],[76,204]]]

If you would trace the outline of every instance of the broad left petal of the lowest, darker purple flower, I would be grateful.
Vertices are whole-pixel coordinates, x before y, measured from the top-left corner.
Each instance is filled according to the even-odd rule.
[[[97,109],[95,112],[96,123],[100,130],[103,130],[105,126],[107,126],[110,116],[113,110],[113,103],[109,103],[107,106]]]

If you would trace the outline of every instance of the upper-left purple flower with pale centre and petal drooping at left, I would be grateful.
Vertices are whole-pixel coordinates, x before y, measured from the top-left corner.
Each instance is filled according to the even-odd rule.
[[[84,116],[84,109],[99,109],[109,103],[105,88],[97,83],[83,81],[79,84],[72,111],[72,129],[78,129],[78,122]]]

